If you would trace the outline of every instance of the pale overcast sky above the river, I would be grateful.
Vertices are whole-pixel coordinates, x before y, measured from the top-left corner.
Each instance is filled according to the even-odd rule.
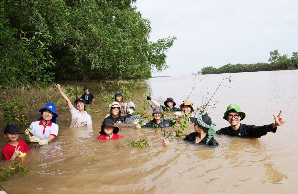
[[[170,68],[153,76],[188,75],[206,66],[267,62],[270,51],[298,51],[297,0],[138,0],[151,22],[150,41],[176,36]]]

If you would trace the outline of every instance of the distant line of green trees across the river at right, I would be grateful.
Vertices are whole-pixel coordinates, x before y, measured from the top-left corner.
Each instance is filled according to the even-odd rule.
[[[291,70],[298,68],[298,52],[293,52],[292,57],[288,55],[280,55],[278,50],[270,51],[270,63],[256,64],[226,64],[225,66],[215,68],[212,66],[204,67],[202,74],[213,73],[237,73],[237,72],[253,72],[253,71],[270,71],[270,70]]]

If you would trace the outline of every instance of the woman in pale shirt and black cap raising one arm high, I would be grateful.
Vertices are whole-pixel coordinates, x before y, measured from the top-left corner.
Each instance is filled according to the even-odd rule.
[[[77,109],[72,105],[68,97],[61,91],[61,86],[56,83],[56,87],[60,92],[61,96],[66,100],[69,111],[72,115],[72,122],[70,127],[83,127],[86,125],[92,125],[91,116],[85,111],[85,100],[83,98],[77,98],[75,100],[75,105]]]

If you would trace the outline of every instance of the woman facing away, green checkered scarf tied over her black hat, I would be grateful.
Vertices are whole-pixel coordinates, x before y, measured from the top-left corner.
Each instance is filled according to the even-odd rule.
[[[195,144],[207,144],[209,146],[219,145],[214,139],[214,126],[216,124],[211,121],[211,118],[208,115],[201,114],[197,118],[190,117],[190,121],[194,124],[195,132],[190,133],[183,140]],[[162,144],[169,144],[169,140],[164,138]]]

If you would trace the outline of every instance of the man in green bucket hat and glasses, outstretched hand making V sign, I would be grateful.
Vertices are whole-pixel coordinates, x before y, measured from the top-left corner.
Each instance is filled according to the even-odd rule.
[[[285,120],[281,117],[282,110],[280,113],[274,116],[274,123],[255,126],[248,124],[241,124],[240,121],[245,118],[245,113],[241,112],[240,107],[237,104],[231,104],[226,109],[223,119],[227,120],[231,126],[221,128],[216,132],[216,134],[224,134],[230,136],[238,136],[242,138],[260,138],[263,135],[266,135],[268,132],[275,133],[278,126],[281,126],[285,123]]]

